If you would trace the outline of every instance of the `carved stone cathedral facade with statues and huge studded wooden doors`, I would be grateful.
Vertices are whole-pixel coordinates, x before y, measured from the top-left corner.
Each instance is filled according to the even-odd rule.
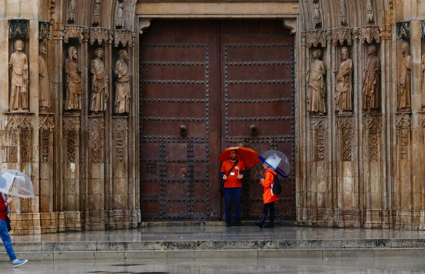
[[[216,158],[240,144],[290,158],[283,222],[424,229],[423,1],[0,6],[0,167],[35,190],[14,234],[222,220]]]

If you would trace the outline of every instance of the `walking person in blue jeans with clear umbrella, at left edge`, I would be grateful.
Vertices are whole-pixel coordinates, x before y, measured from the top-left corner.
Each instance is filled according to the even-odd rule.
[[[15,195],[22,198],[34,198],[34,188],[32,182],[25,173],[13,169],[4,169],[0,171],[0,238],[3,241],[4,248],[12,261],[13,267],[19,267],[28,263],[28,260],[17,259],[13,251],[9,230],[10,212],[9,205],[15,197],[6,199],[4,194]],[[8,227],[9,225],[9,227]]]

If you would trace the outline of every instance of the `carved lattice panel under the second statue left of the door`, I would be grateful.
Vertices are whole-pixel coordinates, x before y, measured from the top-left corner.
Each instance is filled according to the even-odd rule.
[[[102,143],[105,132],[105,120],[103,117],[89,117],[88,140],[90,144],[91,163],[102,163]]]

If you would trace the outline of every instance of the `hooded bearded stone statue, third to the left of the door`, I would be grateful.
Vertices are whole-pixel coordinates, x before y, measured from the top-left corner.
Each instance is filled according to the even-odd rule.
[[[77,63],[77,49],[68,48],[68,58],[65,59],[66,102],[65,109],[81,109],[81,70]]]

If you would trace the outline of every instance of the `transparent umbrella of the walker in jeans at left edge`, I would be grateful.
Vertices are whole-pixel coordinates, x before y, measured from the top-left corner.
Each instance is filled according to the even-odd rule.
[[[14,169],[0,171],[0,191],[21,198],[34,198],[31,179],[25,173]]]

